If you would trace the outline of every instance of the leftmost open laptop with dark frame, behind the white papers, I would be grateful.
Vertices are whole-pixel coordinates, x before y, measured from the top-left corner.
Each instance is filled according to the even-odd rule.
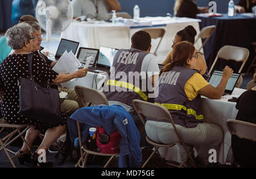
[[[77,41],[61,39],[59,47],[58,47],[56,55],[55,55],[55,60],[59,60],[61,55],[63,55],[63,53],[65,51],[67,51],[67,52],[72,51],[75,55],[78,46],[79,46],[79,42],[77,42]]]

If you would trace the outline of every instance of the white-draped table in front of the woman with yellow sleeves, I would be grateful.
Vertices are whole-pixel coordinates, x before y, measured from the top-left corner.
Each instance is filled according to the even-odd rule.
[[[226,156],[228,155],[229,147],[231,145],[231,135],[226,127],[226,120],[236,119],[238,110],[236,109],[236,102],[228,102],[232,97],[239,97],[244,89],[235,88],[232,95],[226,95],[221,99],[209,99],[202,97],[201,110],[204,115],[204,121],[208,123],[218,124],[223,130],[223,140],[217,151],[217,161],[225,164]],[[167,160],[175,160],[181,162],[181,155],[179,147],[160,148],[159,152],[162,157]]]

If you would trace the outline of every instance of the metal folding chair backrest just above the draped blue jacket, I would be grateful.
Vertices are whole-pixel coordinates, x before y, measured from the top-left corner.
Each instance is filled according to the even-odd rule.
[[[75,91],[84,106],[88,106],[88,103],[93,103],[94,105],[109,105],[108,99],[102,91],[78,85],[75,86]]]

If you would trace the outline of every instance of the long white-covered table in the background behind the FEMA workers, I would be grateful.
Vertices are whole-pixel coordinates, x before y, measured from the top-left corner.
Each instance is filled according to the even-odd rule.
[[[79,41],[79,47],[100,48],[100,46],[113,48],[130,48],[131,36],[143,28],[164,28],[164,35],[159,48],[158,55],[166,56],[171,49],[172,39],[175,34],[188,25],[192,25],[199,35],[199,19],[191,18],[170,18],[170,17],[155,17],[143,18],[151,22],[151,26],[127,25],[125,23],[108,23],[108,22],[72,22],[69,27],[61,32],[60,37],[73,41]],[[160,39],[156,39],[160,40]],[[152,41],[152,51],[156,47],[156,42]],[[195,47],[201,47],[201,39],[197,41]],[[159,61],[162,61],[160,59]]]

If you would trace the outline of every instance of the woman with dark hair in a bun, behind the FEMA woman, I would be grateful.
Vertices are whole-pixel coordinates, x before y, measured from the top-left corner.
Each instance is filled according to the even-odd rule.
[[[195,43],[195,36],[196,36],[196,30],[193,26],[187,26],[183,30],[177,32],[177,34],[174,36],[174,40],[172,40],[172,48],[179,43],[180,41],[189,41],[192,44]],[[161,63],[163,65],[167,65],[168,63],[171,63],[171,54],[172,50],[167,54],[166,58],[164,61]],[[205,59],[203,55],[196,50],[196,54],[198,56],[197,61],[196,61],[196,68],[199,70],[200,74],[205,78],[205,80],[209,80],[208,76],[208,68],[207,64],[205,62]]]

